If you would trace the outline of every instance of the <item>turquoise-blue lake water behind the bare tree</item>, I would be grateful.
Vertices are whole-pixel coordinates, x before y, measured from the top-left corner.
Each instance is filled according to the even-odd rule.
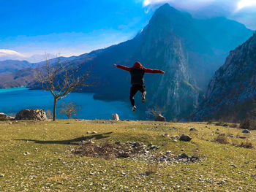
[[[137,113],[132,112],[129,103],[122,101],[94,100],[92,93],[71,93],[67,98],[57,103],[57,118],[67,118],[59,115],[61,102],[74,101],[80,106],[78,114],[73,118],[82,119],[111,119],[111,114],[117,113],[121,119],[136,120]],[[53,96],[48,91],[29,90],[28,88],[0,89],[0,112],[17,113],[24,109],[53,109]]]

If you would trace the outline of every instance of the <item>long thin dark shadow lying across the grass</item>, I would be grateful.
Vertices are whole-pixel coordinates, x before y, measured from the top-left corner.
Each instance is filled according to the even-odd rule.
[[[42,141],[42,140],[34,140],[34,139],[15,139],[16,141],[29,141],[29,142],[35,142],[39,144],[61,144],[61,145],[79,145],[79,142],[83,140],[88,139],[104,139],[110,137],[110,134],[112,132],[108,132],[105,134],[93,134],[85,137],[78,137],[75,139],[69,139],[69,140],[53,140],[53,141]]]

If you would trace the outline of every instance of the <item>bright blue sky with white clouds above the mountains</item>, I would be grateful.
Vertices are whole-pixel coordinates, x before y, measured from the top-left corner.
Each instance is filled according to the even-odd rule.
[[[256,29],[256,0],[0,0],[0,50],[79,55],[131,39],[159,4]],[[214,7],[212,12],[204,12]]]

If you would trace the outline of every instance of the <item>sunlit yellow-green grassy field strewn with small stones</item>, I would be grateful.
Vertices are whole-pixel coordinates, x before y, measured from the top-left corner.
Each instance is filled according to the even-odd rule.
[[[198,131],[189,131],[191,127]],[[86,134],[87,131],[97,134]],[[192,141],[173,142],[162,137],[165,133],[189,134]],[[218,134],[234,137],[227,137],[229,144],[219,144],[213,142]],[[244,136],[241,129],[206,123],[0,122],[0,174],[4,174],[0,177],[0,191],[237,191],[238,187],[241,191],[256,191],[256,131],[246,139],[236,136]],[[189,164],[159,163],[155,174],[145,176],[154,166],[147,161],[73,155],[70,150],[78,147],[81,139],[152,142],[161,146],[157,153],[171,150],[177,155],[199,155],[203,160]],[[237,147],[242,141],[252,142],[255,148]],[[30,154],[24,155],[25,152]]]

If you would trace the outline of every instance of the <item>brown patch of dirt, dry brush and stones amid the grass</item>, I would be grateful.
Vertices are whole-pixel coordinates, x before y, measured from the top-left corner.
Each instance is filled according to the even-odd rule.
[[[72,151],[75,155],[105,158],[108,160],[115,158],[129,158],[132,160],[146,160],[150,162],[161,161],[164,163],[177,164],[200,161],[200,158],[192,155],[189,157],[185,153],[175,155],[170,150],[158,152],[159,147],[155,145],[144,145],[143,142],[105,142],[96,144],[91,140],[84,141]]]

